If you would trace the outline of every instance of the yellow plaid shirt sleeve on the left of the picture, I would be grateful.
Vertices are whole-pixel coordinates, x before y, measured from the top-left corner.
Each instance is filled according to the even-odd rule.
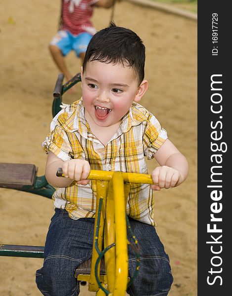
[[[72,152],[72,148],[67,133],[60,127],[55,119],[56,117],[54,117],[51,122],[50,133],[42,143],[42,148],[46,154],[48,151],[51,151],[63,161],[69,160],[71,159],[69,153]]]

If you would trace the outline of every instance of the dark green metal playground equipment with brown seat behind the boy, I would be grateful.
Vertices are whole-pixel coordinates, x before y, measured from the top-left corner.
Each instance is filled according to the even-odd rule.
[[[53,92],[53,117],[65,107],[62,95],[81,81],[81,73],[76,74],[65,84],[63,80],[64,75],[59,74]],[[36,165],[21,163],[0,163],[0,187],[31,192],[47,198],[51,198],[55,191],[55,188],[47,183],[45,176],[37,176]],[[43,258],[44,247],[0,244],[0,256]]]

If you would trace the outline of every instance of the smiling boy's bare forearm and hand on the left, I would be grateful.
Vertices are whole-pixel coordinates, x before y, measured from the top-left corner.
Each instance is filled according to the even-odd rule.
[[[56,177],[58,168],[62,168],[66,178]],[[90,164],[84,159],[69,159],[63,161],[54,153],[49,151],[46,162],[45,176],[47,182],[54,187],[67,187],[73,181],[77,184],[87,185],[86,180],[90,174]]]

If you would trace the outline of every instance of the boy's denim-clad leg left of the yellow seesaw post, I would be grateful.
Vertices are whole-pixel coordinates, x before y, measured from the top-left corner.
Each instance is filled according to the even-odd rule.
[[[77,296],[77,266],[92,256],[94,219],[72,220],[56,209],[45,244],[44,266],[37,270],[36,283],[45,296]]]

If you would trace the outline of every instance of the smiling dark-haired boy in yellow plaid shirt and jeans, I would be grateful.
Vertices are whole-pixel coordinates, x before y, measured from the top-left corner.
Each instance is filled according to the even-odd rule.
[[[168,255],[155,230],[152,190],[180,185],[187,177],[186,158],[168,140],[149,111],[138,104],[144,80],[145,47],[131,30],[116,27],[96,33],[82,68],[82,99],[60,111],[43,143],[48,153],[47,181],[58,187],[55,214],[45,245],[37,285],[45,296],[79,295],[74,271],[91,258],[95,217],[95,182],[90,170],[147,173],[145,156],[160,166],[155,185],[131,185],[127,214],[140,246],[140,269],[128,293],[167,296],[173,282]],[[62,167],[66,178],[57,178]],[[129,274],[136,268],[129,248]]]

